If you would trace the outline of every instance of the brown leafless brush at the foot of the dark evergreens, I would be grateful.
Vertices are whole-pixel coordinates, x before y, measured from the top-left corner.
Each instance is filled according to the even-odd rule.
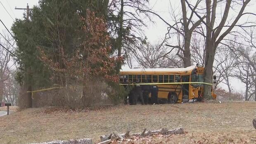
[[[106,83],[104,80],[95,79],[86,82],[85,85],[69,83],[69,86],[33,92],[33,107],[58,106],[68,109],[79,109],[84,107],[100,108],[117,105],[123,102],[128,92],[118,83]],[[18,106],[25,109],[28,106],[26,97],[28,93],[23,90],[18,98]]]

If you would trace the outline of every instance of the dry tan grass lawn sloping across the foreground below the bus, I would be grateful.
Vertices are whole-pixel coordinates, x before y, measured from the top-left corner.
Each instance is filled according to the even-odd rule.
[[[0,117],[1,144],[93,138],[113,130],[141,132],[183,127],[185,135],[152,138],[153,143],[253,143],[256,103],[194,103],[117,106],[88,112],[45,112],[26,109]],[[136,142],[137,143],[137,142]],[[138,143],[145,143],[138,141]]]

